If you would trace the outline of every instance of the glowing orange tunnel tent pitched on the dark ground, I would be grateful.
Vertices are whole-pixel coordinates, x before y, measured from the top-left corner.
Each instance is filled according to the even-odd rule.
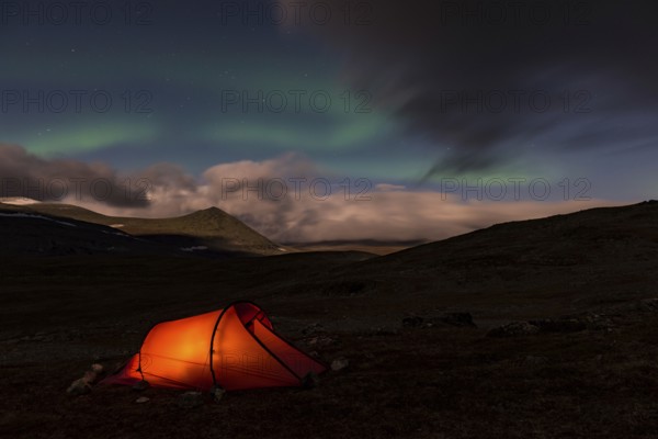
[[[160,323],[141,348],[105,383],[227,391],[298,386],[327,368],[279,336],[265,313],[250,302]]]

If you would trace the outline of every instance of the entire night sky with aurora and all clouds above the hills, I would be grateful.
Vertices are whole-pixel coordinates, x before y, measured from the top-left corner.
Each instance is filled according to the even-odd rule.
[[[148,199],[63,201],[140,216],[218,205],[287,241],[435,239],[657,198],[649,1],[0,8],[3,196],[8,178],[145,178]],[[220,193],[223,178],[299,176],[334,196]],[[339,183],[359,192],[360,178],[368,198],[345,200]],[[478,179],[525,182],[520,200],[453,184]],[[549,195],[525,193],[535,179]]]

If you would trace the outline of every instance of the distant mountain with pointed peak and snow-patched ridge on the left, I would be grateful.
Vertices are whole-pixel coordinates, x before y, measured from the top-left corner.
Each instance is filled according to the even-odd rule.
[[[22,205],[0,203],[0,213],[3,213],[0,218],[3,234],[8,237],[13,236],[12,240],[15,243],[19,243],[21,237],[31,243],[26,247],[16,244],[18,249],[33,248],[34,245],[37,248],[49,248],[48,245],[45,247],[37,245],[33,239],[36,235],[32,233],[36,233],[42,240],[55,237],[65,239],[59,235],[64,233],[61,228],[65,226],[64,223],[69,223],[76,224],[78,230],[86,234],[79,237],[82,241],[102,243],[99,244],[100,247],[95,244],[91,245],[93,251],[98,251],[99,248],[111,248],[113,245],[100,237],[91,239],[87,235],[89,233],[118,236],[122,239],[139,238],[140,243],[148,243],[149,251],[160,249],[164,252],[184,251],[202,255],[277,255],[284,251],[276,244],[217,207],[161,219],[105,216],[87,209],[57,203]],[[16,214],[23,216],[15,216]],[[27,225],[36,228],[32,230],[30,227],[23,227]],[[79,239],[71,236],[70,232],[73,230],[67,229],[63,236],[72,239],[71,246],[78,248]],[[140,249],[144,250],[141,247]],[[8,248],[5,252],[9,251]]]

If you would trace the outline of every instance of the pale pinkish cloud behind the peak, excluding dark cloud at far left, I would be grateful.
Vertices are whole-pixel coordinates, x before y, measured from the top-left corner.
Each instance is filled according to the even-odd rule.
[[[148,209],[82,204],[111,215],[149,217],[218,206],[280,243],[436,240],[499,222],[610,204],[600,200],[465,201],[460,193],[410,191],[388,183],[345,184],[344,178],[322,175],[296,155],[217,165],[198,181],[178,167],[158,165],[148,172],[159,176],[150,182]]]

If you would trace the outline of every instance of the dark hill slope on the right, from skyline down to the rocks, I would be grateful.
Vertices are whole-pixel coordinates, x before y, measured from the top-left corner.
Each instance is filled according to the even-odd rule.
[[[337,267],[298,291],[497,319],[650,297],[657,271],[658,202],[650,201],[498,224]]]

